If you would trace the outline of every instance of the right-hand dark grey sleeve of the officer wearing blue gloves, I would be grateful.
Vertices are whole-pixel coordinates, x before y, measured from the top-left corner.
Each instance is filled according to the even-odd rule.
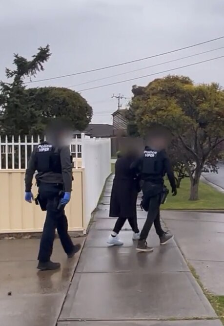
[[[64,190],[67,193],[72,191],[72,162],[69,147],[62,147],[60,150],[61,170]]]

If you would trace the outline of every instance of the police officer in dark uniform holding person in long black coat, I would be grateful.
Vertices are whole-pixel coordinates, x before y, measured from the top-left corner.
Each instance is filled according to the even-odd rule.
[[[170,161],[164,150],[165,139],[163,135],[154,134],[150,138],[150,146],[146,146],[143,156],[136,160],[131,169],[141,174],[143,180],[143,207],[148,212],[144,223],[137,251],[152,252],[153,248],[148,247],[146,239],[154,223],[156,232],[160,237],[161,244],[165,244],[173,236],[165,233],[160,224],[160,204],[164,189],[164,175],[167,174],[173,196],[177,195],[177,188],[174,173]]]

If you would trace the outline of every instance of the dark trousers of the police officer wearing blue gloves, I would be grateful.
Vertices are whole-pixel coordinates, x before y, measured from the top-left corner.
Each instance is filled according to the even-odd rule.
[[[58,209],[60,201],[59,192],[60,186],[58,184],[41,183],[39,185],[40,201],[46,207],[47,212],[38,255],[38,260],[41,262],[50,261],[56,229],[65,253],[71,253],[74,247],[68,235],[68,222],[64,213],[64,207]]]

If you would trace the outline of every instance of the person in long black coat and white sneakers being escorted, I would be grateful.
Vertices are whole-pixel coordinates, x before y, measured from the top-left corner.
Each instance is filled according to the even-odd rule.
[[[115,164],[115,177],[110,198],[110,217],[118,217],[114,229],[107,243],[110,245],[122,245],[119,239],[126,219],[133,230],[133,240],[138,240],[140,231],[137,223],[136,202],[140,192],[140,179],[130,169],[131,164],[137,158],[134,151],[128,151],[119,155]]]

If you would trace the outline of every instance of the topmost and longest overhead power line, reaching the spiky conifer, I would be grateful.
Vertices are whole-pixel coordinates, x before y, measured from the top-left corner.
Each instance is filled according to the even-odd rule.
[[[77,75],[81,75],[81,74],[85,74],[85,73],[89,73],[89,72],[94,72],[94,71],[99,71],[99,70],[104,70],[104,69],[119,67],[121,65],[129,65],[129,64],[132,64],[132,63],[135,63],[135,62],[139,62],[139,61],[143,61],[143,60],[147,60],[147,59],[152,59],[152,58],[160,57],[160,56],[163,56],[165,54],[170,54],[170,53],[182,51],[182,50],[185,50],[185,49],[189,49],[191,47],[195,47],[195,46],[198,46],[198,45],[202,45],[202,44],[206,44],[206,43],[218,41],[218,40],[221,40],[221,39],[224,39],[224,36],[217,37],[215,39],[207,40],[207,41],[200,42],[200,43],[191,44],[191,45],[184,46],[184,47],[181,47],[181,48],[177,48],[175,50],[171,50],[171,51],[167,51],[167,52],[155,54],[155,55],[152,55],[152,56],[144,57],[144,58],[141,58],[141,59],[126,61],[126,62],[123,62],[123,63],[120,63],[120,64],[116,64],[116,65],[107,65],[107,66],[104,66],[104,67],[100,67],[100,68],[96,68],[96,69],[91,69],[91,70],[85,70],[85,71],[75,72],[73,74],[68,74],[68,75],[61,75],[61,76],[56,76],[56,77],[51,77],[51,78],[39,79],[39,80],[27,82],[25,84],[45,82],[45,81],[49,81],[49,80],[53,80],[53,79],[59,79],[59,78],[70,77],[70,76],[77,76]]]

